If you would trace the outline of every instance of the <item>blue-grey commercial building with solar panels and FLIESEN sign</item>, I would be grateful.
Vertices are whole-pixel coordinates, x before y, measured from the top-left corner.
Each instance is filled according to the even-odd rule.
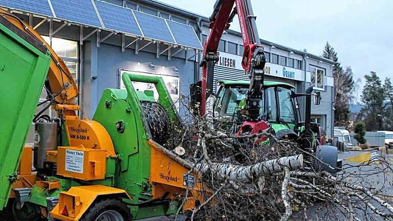
[[[93,117],[104,89],[122,87],[124,72],[162,76],[180,114],[186,113],[183,104],[189,85],[200,79],[207,17],[154,0],[19,2],[5,0],[0,7],[45,36],[67,63],[82,92],[78,98],[82,117]],[[313,120],[333,136],[334,62],[273,42],[261,43],[268,59],[265,78],[290,83],[298,93],[314,85],[322,100],[321,105],[312,106]],[[243,41],[238,32],[226,31],[219,51],[215,80],[248,79],[241,67]],[[302,113],[304,100],[299,103]]]

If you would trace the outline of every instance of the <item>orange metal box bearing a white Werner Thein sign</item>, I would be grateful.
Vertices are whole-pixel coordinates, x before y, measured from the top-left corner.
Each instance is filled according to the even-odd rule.
[[[57,174],[84,181],[102,180],[106,172],[106,151],[79,147],[58,147]]]

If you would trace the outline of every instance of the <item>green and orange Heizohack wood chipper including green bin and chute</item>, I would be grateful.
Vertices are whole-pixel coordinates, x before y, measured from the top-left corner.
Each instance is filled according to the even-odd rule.
[[[202,203],[198,174],[160,145],[179,121],[163,80],[122,79],[126,90],[105,90],[93,120],[80,119],[80,93],[64,62],[36,31],[0,10],[2,220],[132,220]],[[133,81],[155,84],[158,101],[134,90]],[[34,115],[42,86],[49,96]],[[57,118],[42,115],[50,107]],[[34,147],[24,145],[31,122]]]

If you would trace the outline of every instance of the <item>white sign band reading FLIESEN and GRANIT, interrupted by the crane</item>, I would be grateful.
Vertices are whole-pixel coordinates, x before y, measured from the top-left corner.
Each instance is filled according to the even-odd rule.
[[[223,68],[230,68],[244,71],[242,67],[242,56],[229,54],[225,52],[219,52],[219,61],[215,64],[216,66]],[[271,75],[279,78],[286,78],[291,80],[304,80],[304,71],[289,67],[284,67],[282,65],[274,63],[265,64],[265,74]]]

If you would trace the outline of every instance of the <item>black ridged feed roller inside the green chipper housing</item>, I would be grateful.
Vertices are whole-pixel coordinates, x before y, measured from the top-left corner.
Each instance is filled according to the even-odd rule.
[[[168,113],[161,104],[151,101],[141,101],[143,116],[149,125],[150,134],[154,141],[164,145],[168,139],[171,122]]]

